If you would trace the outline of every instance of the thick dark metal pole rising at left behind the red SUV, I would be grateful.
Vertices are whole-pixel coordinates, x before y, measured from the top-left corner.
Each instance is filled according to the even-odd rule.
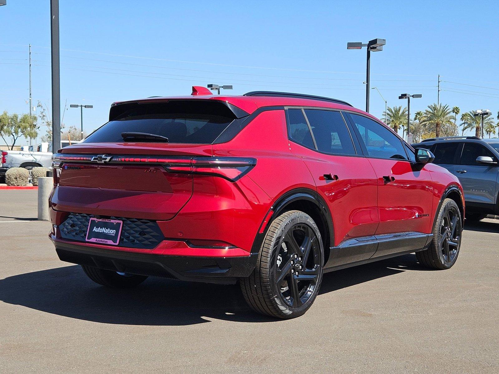
[[[50,0],[50,52],[52,62],[52,153],[56,153],[61,146],[59,0]]]

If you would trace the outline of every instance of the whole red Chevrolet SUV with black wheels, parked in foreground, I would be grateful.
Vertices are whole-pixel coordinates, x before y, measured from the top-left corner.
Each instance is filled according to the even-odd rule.
[[[463,190],[433,159],[336,99],[193,87],[116,102],[53,155],[50,239],[104,286],[239,281],[256,312],[293,318],[325,272],[411,252],[454,265]]]

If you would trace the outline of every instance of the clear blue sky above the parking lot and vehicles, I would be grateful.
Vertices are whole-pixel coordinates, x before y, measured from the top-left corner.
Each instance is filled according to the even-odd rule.
[[[371,86],[388,106],[405,104],[401,93],[421,93],[411,113],[424,110],[437,101],[440,74],[441,102],[495,117],[497,11],[495,1],[61,0],[62,107],[66,99],[68,107],[93,105],[84,111],[89,132],[106,122],[113,101],[219,83],[234,85],[231,94],[302,92],[364,109],[365,49],[346,43],[379,37],[386,46],[372,54]],[[0,111],[29,111],[29,43],[33,105],[50,105],[49,1],[7,0],[0,35]],[[371,113],[383,110],[372,90]],[[79,127],[79,110],[63,115]]]

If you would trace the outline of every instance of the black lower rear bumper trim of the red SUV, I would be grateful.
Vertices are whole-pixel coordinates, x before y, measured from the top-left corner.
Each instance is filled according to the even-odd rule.
[[[247,257],[191,257],[124,252],[54,242],[59,259],[129,274],[205,283],[235,283],[250,276],[257,254]]]

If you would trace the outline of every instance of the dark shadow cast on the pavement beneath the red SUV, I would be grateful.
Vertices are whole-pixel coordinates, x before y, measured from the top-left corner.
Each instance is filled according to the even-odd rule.
[[[398,274],[406,269],[423,268],[411,254],[327,273],[320,294]],[[211,319],[276,321],[254,313],[247,306],[239,285],[150,277],[134,289],[108,289],[93,283],[78,265],[1,279],[0,300],[46,313],[109,324],[183,326],[210,322]]]

